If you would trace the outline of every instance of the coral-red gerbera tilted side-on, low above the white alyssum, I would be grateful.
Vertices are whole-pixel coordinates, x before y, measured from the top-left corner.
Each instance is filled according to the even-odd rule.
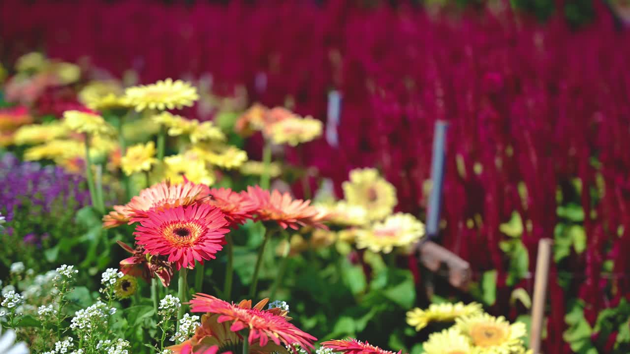
[[[259,346],[265,347],[269,340],[272,340],[278,346],[284,344],[292,348],[293,345],[299,345],[304,350],[312,348],[312,341],[317,338],[289,323],[291,318],[286,316],[287,311],[277,307],[264,310],[268,300],[261,300],[252,307],[251,300],[234,304],[212,295],[196,294],[190,300],[190,305],[192,312],[210,312],[220,315],[217,317],[217,322],[231,322],[230,330],[233,332],[248,329],[250,344],[258,343]]]

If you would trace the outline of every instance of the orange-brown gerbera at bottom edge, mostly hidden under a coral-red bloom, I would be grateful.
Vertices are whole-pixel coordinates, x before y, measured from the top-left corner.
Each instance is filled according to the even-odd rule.
[[[243,347],[243,336],[238,332],[230,330],[230,324],[227,322],[219,322],[219,314],[204,314],[201,317],[201,325],[195,330],[195,334],[183,343],[169,346],[167,349],[173,351],[173,354],[182,354],[186,347],[190,346],[192,350],[207,350],[217,346],[219,351],[231,350],[234,352],[241,351]],[[277,345],[272,341],[268,341],[265,346],[260,346],[260,340],[256,340],[249,346],[251,354],[289,354],[287,348]]]

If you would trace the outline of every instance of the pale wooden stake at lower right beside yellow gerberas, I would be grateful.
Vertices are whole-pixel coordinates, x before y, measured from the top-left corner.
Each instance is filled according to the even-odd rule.
[[[534,305],[532,305],[532,328],[529,334],[530,349],[534,354],[541,353],[542,323],[547,297],[547,280],[549,279],[549,263],[551,262],[552,239],[541,239],[538,242],[538,258],[534,274]]]

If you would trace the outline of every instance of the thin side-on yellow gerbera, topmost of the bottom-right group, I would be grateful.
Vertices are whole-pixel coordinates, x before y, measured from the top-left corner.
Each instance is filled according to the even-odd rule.
[[[407,323],[420,331],[430,322],[453,322],[455,319],[464,316],[472,316],[483,313],[481,304],[471,302],[464,304],[430,304],[428,309],[423,310],[418,307],[407,312]]]

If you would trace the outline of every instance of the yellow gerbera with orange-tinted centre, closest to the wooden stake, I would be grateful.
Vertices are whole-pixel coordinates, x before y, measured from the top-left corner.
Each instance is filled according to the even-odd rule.
[[[494,317],[489,314],[455,319],[455,328],[469,338],[479,354],[510,354],[525,350],[523,337],[526,329],[524,323],[510,324],[505,317]]]

